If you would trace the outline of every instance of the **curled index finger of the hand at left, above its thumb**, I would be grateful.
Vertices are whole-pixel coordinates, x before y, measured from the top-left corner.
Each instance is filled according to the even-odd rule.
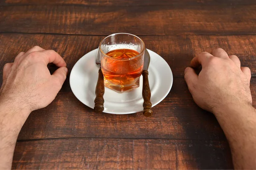
[[[58,67],[66,67],[67,66],[64,59],[53,50],[40,51],[40,53],[44,54],[44,61],[45,61],[46,65],[52,62],[53,64],[57,65]]]

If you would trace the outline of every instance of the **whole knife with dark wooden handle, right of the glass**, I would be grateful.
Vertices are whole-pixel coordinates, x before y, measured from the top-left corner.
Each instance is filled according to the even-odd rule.
[[[142,71],[142,76],[143,76],[143,86],[142,86],[142,96],[144,99],[143,102],[143,115],[146,117],[150,117],[153,114],[153,111],[151,110],[151,91],[149,87],[149,82],[148,82],[148,66],[150,63],[150,55],[148,53],[148,50],[145,49],[145,54],[144,54],[144,65],[143,65],[143,71]]]

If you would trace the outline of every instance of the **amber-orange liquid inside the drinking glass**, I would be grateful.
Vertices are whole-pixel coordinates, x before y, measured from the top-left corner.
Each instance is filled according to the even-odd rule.
[[[102,73],[108,83],[120,85],[122,88],[134,84],[140,78],[143,70],[143,56],[135,57],[139,52],[131,49],[117,49],[109,51],[107,55],[109,57],[102,57]]]

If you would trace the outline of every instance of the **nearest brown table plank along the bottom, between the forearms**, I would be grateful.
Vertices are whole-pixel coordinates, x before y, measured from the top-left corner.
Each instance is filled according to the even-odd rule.
[[[17,142],[12,168],[166,170],[232,169],[233,166],[226,142],[50,139]]]

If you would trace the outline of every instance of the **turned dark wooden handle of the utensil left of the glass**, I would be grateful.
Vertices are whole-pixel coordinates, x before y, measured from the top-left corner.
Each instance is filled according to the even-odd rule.
[[[104,111],[104,98],[105,93],[104,77],[101,68],[99,68],[99,77],[95,89],[94,111],[102,113]]]

